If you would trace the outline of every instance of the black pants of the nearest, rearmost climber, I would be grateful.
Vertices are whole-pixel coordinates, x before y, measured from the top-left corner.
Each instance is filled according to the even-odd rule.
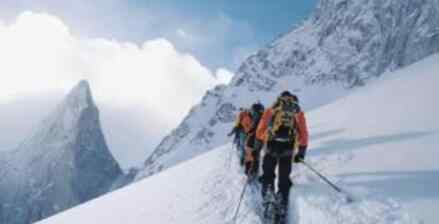
[[[290,180],[292,166],[293,143],[291,142],[268,142],[262,169],[262,194],[265,195],[267,189],[274,188],[274,180],[276,178],[275,169],[278,166],[278,190],[281,193],[283,201],[287,202],[292,182]]]

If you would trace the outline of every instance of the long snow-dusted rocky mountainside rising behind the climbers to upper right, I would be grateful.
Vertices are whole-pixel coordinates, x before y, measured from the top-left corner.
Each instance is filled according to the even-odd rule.
[[[239,107],[283,90],[306,110],[439,51],[438,0],[321,0],[303,25],[250,56],[209,91],[145,161],[138,179],[213,149]]]

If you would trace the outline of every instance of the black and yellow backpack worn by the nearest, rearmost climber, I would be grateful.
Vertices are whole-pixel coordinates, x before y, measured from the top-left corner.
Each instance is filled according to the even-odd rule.
[[[273,116],[269,124],[271,139],[294,141],[296,136],[296,114],[300,107],[293,97],[280,97],[273,107]]]

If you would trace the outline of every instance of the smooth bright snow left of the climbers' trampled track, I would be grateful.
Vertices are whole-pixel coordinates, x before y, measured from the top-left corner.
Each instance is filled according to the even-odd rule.
[[[243,180],[236,166],[229,167],[233,165],[229,148],[197,157],[42,223],[224,223]]]

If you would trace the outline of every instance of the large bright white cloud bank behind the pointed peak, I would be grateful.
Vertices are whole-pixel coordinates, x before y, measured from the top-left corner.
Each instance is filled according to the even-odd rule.
[[[54,89],[67,91],[78,80],[91,82],[102,103],[139,106],[148,116],[175,126],[206,90],[228,82],[166,39],[138,45],[109,39],[82,39],[59,18],[25,12],[0,21],[0,102]]]

